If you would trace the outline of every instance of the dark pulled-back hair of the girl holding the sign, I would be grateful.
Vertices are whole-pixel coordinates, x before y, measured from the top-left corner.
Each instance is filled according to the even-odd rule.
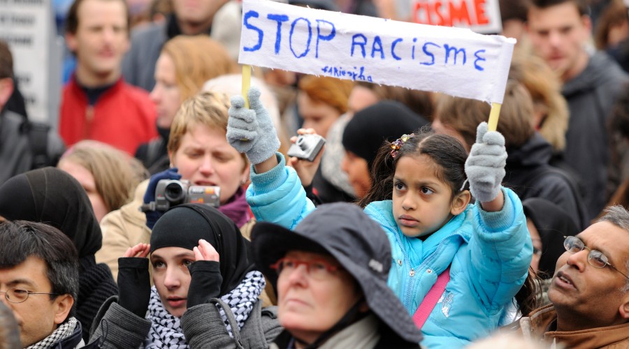
[[[465,159],[468,158],[463,144],[454,137],[436,134],[429,126],[424,126],[402,144],[395,158],[391,156],[391,143],[382,143],[370,172],[371,188],[359,205],[366,207],[370,202],[391,200],[397,162],[404,156],[421,154],[429,156],[439,165],[437,178],[449,185],[453,197],[461,191],[466,179]]]

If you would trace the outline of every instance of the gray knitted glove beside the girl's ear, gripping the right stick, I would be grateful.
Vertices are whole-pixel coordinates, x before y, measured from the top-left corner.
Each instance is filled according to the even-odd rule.
[[[476,143],[465,161],[465,174],[476,200],[489,202],[498,196],[506,163],[505,138],[498,131],[487,132],[487,123],[482,122],[476,129]]]

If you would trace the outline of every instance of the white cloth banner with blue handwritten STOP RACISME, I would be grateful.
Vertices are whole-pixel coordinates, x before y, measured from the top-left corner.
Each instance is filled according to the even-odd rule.
[[[515,42],[469,29],[244,0],[238,62],[502,103]]]

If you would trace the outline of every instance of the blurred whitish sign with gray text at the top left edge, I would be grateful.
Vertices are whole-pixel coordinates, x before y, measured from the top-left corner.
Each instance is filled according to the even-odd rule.
[[[13,54],[13,70],[29,118],[57,124],[61,57],[50,0],[0,0],[0,40]]]

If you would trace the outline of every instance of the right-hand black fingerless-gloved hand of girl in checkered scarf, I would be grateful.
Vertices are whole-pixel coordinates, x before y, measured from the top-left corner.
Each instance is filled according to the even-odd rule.
[[[220,257],[214,246],[201,239],[193,251],[195,262],[188,265],[191,276],[186,304],[188,309],[218,297],[223,282]]]

